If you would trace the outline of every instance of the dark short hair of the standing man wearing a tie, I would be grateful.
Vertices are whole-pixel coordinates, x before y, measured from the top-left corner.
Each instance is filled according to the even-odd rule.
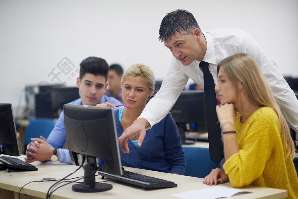
[[[159,41],[167,41],[175,33],[193,34],[193,29],[201,29],[192,13],[187,10],[175,10],[167,13],[159,28]]]

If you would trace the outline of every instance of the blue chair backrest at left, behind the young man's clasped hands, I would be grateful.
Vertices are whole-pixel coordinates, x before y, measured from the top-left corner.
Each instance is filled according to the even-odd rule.
[[[30,121],[25,129],[24,143],[27,146],[31,142],[30,138],[39,138],[42,135],[47,138],[55,126],[55,121],[49,118],[35,118]]]

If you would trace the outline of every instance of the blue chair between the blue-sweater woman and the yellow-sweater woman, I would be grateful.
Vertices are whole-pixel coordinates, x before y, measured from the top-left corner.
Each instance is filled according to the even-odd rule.
[[[185,152],[186,167],[184,175],[205,178],[212,169],[220,168],[209,155],[208,148],[182,146]]]

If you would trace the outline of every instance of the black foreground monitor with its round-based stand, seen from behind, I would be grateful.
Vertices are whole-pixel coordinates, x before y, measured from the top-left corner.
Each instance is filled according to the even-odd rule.
[[[65,104],[64,124],[72,164],[81,165],[82,155],[86,155],[87,159],[86,178],[83,184],[73,185],[72,190],[100,192],[111,189],[110,184],[95,183],[95,175],[92,172],[100,170],[122,175],[113,109]]]

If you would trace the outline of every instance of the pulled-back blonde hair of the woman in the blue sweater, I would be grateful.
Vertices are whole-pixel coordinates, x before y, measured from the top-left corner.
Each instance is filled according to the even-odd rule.
[[[155,77],[153,71],[144,64],[133,64],[131,65],[123,75],[122,84],[126,80],[128,75],[132,75],[134,77],[142,77],[145,81],[146,85],[149,88],[150,96],[154,93],[154,86],[155,86]]]

